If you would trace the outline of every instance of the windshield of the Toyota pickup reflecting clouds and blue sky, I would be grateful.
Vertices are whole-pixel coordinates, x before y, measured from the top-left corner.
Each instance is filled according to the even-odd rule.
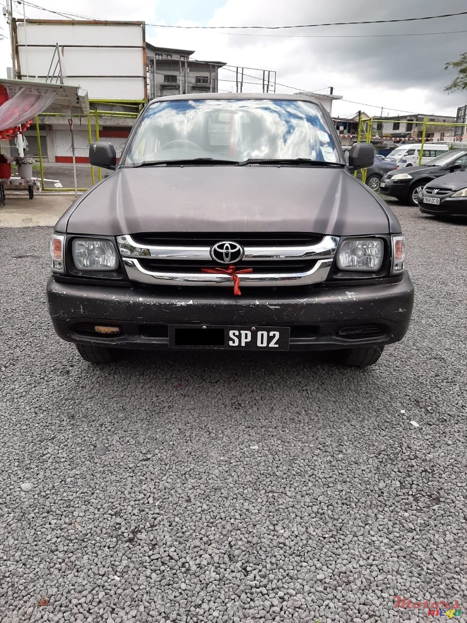
[[[205,158],[342,162],[328,120],[312,102],[206,99],[150,105],[121,164]]]

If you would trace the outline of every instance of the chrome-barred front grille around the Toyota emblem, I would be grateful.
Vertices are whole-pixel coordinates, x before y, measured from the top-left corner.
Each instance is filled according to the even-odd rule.
[[[310,285],[323,282],[339,238],[315,234],[135,234],[117,238],[130,280],[154,285],[232,286],[230,275],[201,269],[227,268],[215,262],[212,245],[223,240],[244,249],[237,270],[242,286]]]

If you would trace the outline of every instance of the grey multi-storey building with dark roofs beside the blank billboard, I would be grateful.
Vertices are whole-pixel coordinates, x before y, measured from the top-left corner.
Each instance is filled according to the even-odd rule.
[[[196,60],[194,50],[157,47],[146,42],[148,98],[177,93],[217,91],[219,67],[217,60]]]

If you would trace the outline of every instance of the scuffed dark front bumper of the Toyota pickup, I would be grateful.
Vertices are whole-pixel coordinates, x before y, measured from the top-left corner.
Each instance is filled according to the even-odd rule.
[[[312,287],[301,293],[248,293],[224,289],[161,292],[141,286],[47,284],[49,312],[62,340],[116,348],[167,349],[168,325],[290,326],[290,350],[328,350],[402,340],[413,307],[407,273],[398,282],[354,287]],[[193,290],[196,290],[194,292]],[[95,333],[94,325],[118,326],[118,336]]]

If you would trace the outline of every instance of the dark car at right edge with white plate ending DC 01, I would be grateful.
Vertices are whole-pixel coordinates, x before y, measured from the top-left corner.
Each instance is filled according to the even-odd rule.
[[[467,214],[467,171],[458,171],[433,179],[418,196],[423,214],[452,216]]]

